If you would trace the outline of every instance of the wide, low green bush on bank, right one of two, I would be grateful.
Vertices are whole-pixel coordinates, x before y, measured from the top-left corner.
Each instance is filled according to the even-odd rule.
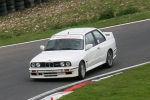
[[[129,7],[127,9],[124,10],[120,10],[119,13],[117,13],[117,16],[122,16],[122,15],[127,15],[127,14],[133,14],[139,12],[139,9],[137,8],[133,8],[133,7]]]

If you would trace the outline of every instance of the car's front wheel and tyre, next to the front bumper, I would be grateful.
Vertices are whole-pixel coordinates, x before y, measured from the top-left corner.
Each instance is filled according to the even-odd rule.
[[[85,74],[86,74],[86,68],[85,68],[85,64],[84,64],[83,61],[81,61],[81,62],[79,63],[79,70],[78,70],[78,73],[79,73],[78,78],[79,78],[79,79],[84,79]]]

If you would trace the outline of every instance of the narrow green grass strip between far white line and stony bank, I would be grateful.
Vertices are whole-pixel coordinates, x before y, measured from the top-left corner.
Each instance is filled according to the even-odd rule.
[[[78,23],[75,26],[72,27],[97,27],[102,28],[106,26],[112,26],[112,25],[118,25],[123,24],[127,22],[133,22],[143,19],[150,18],[150,11],[140,12],[136,14],[130,14],[130,15],[124,15],[124,16],[117,16],[115,18],[107,19],[107,20],[99,20],[99,21],[91,21],[91,22],[85,22],[80,24]],[[47,30],[41,30],[39,32],[30,31],[28,34],[26,32],[21,32],[13,35],[9,34],[1,34],[0,35],[0,46],[4,45],[10,45],[20,42],[27,42],[37,39],[43,39],[43,38],[49,38],[51,35],[64,30],[66,28],[70,28],[69,26],[61,28],[61,29],[47,29]]]

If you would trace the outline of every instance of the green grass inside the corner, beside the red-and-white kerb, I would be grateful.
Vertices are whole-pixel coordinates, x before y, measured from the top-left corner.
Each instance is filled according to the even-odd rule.
[[[59,100],[149,100],[150,64],[86,85]]]

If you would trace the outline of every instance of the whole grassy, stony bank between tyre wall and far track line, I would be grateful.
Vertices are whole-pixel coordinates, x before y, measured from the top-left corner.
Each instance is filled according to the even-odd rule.
[[[149,0],[50,0],[0,16],[0,46],[48,38],[70,27],[101,28],[147,19],[149,5]]]

